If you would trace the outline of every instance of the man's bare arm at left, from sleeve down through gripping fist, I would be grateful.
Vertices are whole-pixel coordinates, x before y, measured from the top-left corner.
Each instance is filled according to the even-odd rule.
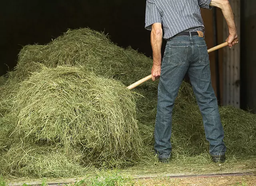
[[[162,24],[154,23],[152,25],[152,31],[151,31],[151,46],[152,46],[152,51],[153,51],[153,67],[151,69],[151,74],[152,74],[153,81],[158,79],[161,74],[162,37],[163,37]]]

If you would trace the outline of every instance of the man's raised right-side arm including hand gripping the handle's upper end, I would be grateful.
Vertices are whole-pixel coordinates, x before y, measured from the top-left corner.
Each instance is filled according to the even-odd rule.
[[[234,14],[228,0],[212,0],[210,6],[216,6],[222,10],[222,14],[228,24],[229,36],[226,39],[228,46],[232,47],[238,43]]]

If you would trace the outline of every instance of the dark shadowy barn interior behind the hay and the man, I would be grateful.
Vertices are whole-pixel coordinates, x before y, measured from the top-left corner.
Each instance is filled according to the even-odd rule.
[[[212,84],[220,104],[233,104],[244,110],[256,112],[256,57],[254,55],[256,37],[256,2],[254,0],[232,0],[233,11],[240,30],[240,76],[234,82],[239,95],[236,103],[228,102],[224,82],[226,73],[223,65],[226,49],[210,54]],[[82,0],[45,0],[45,1],[4,1],[0,6],[0,74],[12,70],[17,56],[24,45],[46,44],[67,29],[89,27],[104,31],[119,46],[138,49],[146,56],[152,56],[150,32],[144,29],[144,1],[82,1]],[[206,27],[208,48],[224,42],[225,22],[220,10],[202,10]],[[164,46],[163,46],[164,48]],[[237,47],[238,48],[238,47]],[[238,49],[237,49],[238,50]],[[225,57],[224,57],[225,54]],[[136,61],[134,61],[136,63]],[[217,70],[217,68],[219,69]],[[231,74],[232,75],[232,74]],[[231,91],[231,90],[230,90]],[[238,93],[237,93],[238,94]],[[231,94],[230,94],[231,95]],[[229,96],[229,94],[228,94]],[[224,100],[223,100],[224,99]],[[226,99],[226,100],[225,100]],[[239,101],[237,101],[239,99]],[[233,101],[234,102],[234,101]]]

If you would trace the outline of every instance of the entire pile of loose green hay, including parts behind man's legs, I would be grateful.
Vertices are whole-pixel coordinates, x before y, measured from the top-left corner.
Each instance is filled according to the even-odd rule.
[[[70,177],[97,167],[154,159],[157,82],[125,86],[150,73],[152,59],[90,29],[20,51],[0,86],[0,174]],[[228,155],[256,153],[256,115],[220,108]],[[174,157],[208,153],[202,116],[183,82],[173,112]]]

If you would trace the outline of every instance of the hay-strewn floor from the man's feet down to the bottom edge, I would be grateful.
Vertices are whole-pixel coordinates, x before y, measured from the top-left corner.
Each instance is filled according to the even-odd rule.
[[[208,163],[207,163],[208,162]],[[88,181],[114,179],[119,185],[149,186],[149,185],[232,185],[232,186],[254,186],[256,185],[256,157],[242,160],[227,159],[226,163],[215,164],[210,161],[204,163],[193,159],[171,161],[169,164],[154,163],[151,165],[137,165],[124,170],[88,170],[88,174],[82,178],[67,179],[26,179],[9,178],[10,186],[41,186],[42,182],[48,186],[57,185],[90,185]],[[123,179],[125,178],[125,180]],[[83,180],[82,182],[80,182]],[[101,181],[99,181],[100,183]],[[103,184],[94,184],[103,185]],[[108,185],[108,184],[105,184]],[[109,184],[111,185],[111,184]]]

